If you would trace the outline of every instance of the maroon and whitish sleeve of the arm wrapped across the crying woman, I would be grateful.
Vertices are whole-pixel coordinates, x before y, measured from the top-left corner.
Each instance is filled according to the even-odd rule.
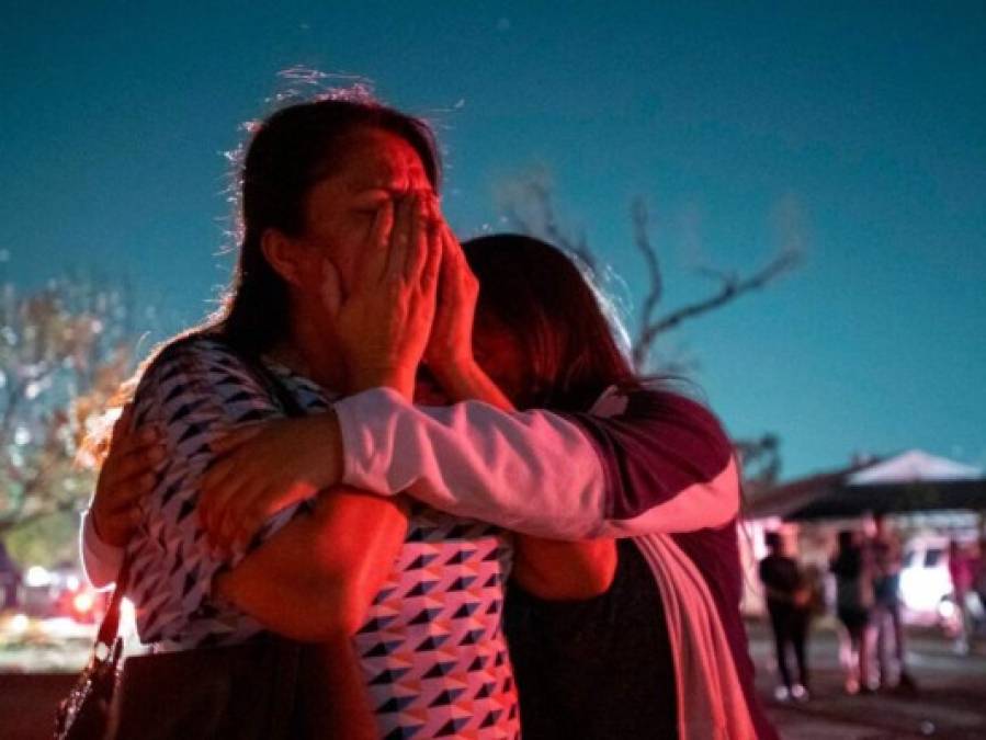
[[[722,526],[739,509],[732,444],[675,394],[622,397],[611,415],[412,406],[385,389],[336,405],[343,480],[542,537]],[[619,400],[619,399],[617,399]]]

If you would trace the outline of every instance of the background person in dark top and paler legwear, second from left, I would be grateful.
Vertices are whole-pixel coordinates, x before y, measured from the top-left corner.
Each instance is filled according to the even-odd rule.
[[[831,561],[836,577],[836,613],[845,627],[840,648],[847,669],[846,693],[871,693],[870,618],[873,610],[873,574],[866,550],[855,532],[843,530]]]

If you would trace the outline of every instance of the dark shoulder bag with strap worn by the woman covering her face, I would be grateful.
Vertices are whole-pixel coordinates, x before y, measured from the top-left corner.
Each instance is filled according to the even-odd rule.
[[[286,415],[304,415],[262,363],[238,354]],[[317,646],[264,634],[241,645],[134,656],[121,679],[117,631],[128,580],[125,560],[92,659],[58,708],[55,740],[324,736],[328,692]]]

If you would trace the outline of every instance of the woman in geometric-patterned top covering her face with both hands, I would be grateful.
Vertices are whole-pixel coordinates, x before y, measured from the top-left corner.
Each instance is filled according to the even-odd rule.
[[[222,440],[284,415],[257,363],[310,414],[294,419],[299,439],[331,439],[335,421],[322,412],[341,394],[386,387],[409,400],[450,239],[430,134],[375,103],[295,105],[253,134],[241,183],[243,239],[227,303],[146,364],[126,430],[131,439],[159,430],[163,451],[126,546],[141,641],[194,650],[271,630],[324,642],[336,647],[329,704],[345,708],[347,732],[362,705],[371,735],[515,737],[500,627],[513,548],[501,530],[400,498],[322,490],[318,476],[295,478],[292,502],[261,517],[241,547],[224,546],[238,525],[223,503],[241,498],[241,477],[215,481],[218,505],[196,514]],[[284,449],[298,452],[290,441]],[[306,452],[308,463],[320,454]],[[146,454],[112,451],[104,481],[133,481],[129,462],[113,460]],[[117,523],[98,500],[83,523],[91,573],[100,554],[89,546]]]

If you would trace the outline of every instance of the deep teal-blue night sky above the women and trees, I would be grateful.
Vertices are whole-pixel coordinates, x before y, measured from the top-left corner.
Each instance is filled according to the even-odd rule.
[[[543,168],[639,295],[645,196],[669,308],[793,221],[797,273],[660,348],[734,434],[779,433],[789,475],[911,446],[986,465],[986,4],[813,4],[8,3],[0,275],[125,275],[197,319],[238,125],[277,70],[355,73],[439,122],[463,235]]]

